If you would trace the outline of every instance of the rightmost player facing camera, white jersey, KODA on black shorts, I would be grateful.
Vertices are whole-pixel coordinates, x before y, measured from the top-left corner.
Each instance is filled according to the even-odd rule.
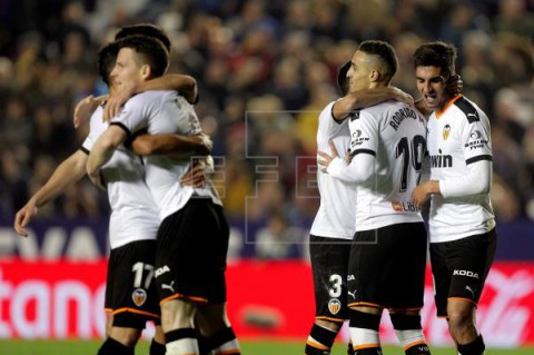
[[[456,48],[444,42],[414,55],[417,89],[434,112],[428,120],[431,179],[413,191],[431,200],[429,238],[437,315],[446,317],[462,355],[484,354],[476,305],[495,255],[497,236],[490,200],[490,120],[476,103],[446,90],[455,75]]]

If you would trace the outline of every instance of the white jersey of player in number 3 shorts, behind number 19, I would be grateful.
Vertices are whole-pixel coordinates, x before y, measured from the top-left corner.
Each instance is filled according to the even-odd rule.
[[[337,151],[347,152],[350,145],[348,118],[337,122],[332,116],[334,102],[328,103],[319,115],[317,129],[317,149],[330,151],[328,140],[336,145]],[[317,159],[320,159],[317,157]],[[333,178],[317,169],[317,187],[320,205],[312,225],[310,234],[319,237],[353,239],[355,233],[356,185]]]

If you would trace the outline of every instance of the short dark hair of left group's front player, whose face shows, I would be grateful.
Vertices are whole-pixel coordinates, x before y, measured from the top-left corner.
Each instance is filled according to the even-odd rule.
[[[128,36],[116,41],[119,51],[130,48],[141,58],[144,65],[150,66],[152,78],[161,77],[169,67],[169,52],[160,40],[147,36]]]

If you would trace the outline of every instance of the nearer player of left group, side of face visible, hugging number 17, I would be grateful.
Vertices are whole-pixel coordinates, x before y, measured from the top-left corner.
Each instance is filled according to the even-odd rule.
[[[117,41],[119,55],[111,73],[119,88],[161,76],[168,53],[154,39],[136,36]],[[147,91],[128,100],[91,151],[87,171],[98,184],[99,169],[128,137],[148,134],[200,132],[192,106],[176,91]],[[146,181],[158,204],[161,225],[156,250],[156,284],[167,355],[198,354],[199,332],[211,349],[240,354],[226,316],[226,253],[229,228],[220,199],[209,179],[201,188],[176,181],[190,168],[194,154],[147,156]],[[206,317],[205,317],[206,316]],[[202,327],[201,323],[207,322]],[[206,331],[209,331],[206,332]]]

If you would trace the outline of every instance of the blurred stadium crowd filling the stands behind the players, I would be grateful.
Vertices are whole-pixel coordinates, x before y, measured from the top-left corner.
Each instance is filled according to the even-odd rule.
[[[309,198],[317,116],[338,95],[337,68],[366,39],[395,47],[393,83],[415,97],[413,50],[436,39],[459,48],[464,93],[493,125],[497,218],[534,219],[532,0],[0,0],[1,219],[11,223],[78,149],[87,130],[73,129],[73,107],[106,92],[96,52],[121,26],[139,22],[171,37],[170,72],[198,80],[197,112],[219,157],[226,210],[266,226],[265,238],[307,233],[291,226],[317,209]],[[106,196],[85,180],[40,217],[107,213]]]

